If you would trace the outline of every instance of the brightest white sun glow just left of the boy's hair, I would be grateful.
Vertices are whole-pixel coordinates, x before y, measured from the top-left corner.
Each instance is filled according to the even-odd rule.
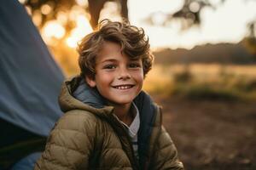
[[[71,31],[70,37],[67,38],[66,42],[70,48],[75,48],[77,43],[88,33],[92,31],[89,21],[86,17],[80,14],[76,18],[77,27]]]

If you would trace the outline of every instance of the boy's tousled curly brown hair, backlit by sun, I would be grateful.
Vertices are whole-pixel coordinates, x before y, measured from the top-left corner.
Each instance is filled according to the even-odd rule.
[[[154,60],[150,52],[148,37],[143,28],[131,26],[129,22],[102,20],[96,31],[85,36],[77,48],[79,52],[79,67],[82,77],[94,78],[96,71],[96,56],[103,42],[116,42],[121,50],[131,59],[143,60],[144,77],[150,71]]]

